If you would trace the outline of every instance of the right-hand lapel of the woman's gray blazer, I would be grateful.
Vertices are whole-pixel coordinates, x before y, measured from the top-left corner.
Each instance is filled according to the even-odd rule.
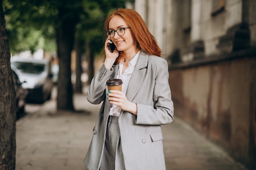
[[[144,51],[141,51],[126,91],[126,97],[129,101],[132,101],[132,99],[137,94],[139,86],[141,85],[143,77],[146,73],[147,66],[148,54],[144,53]]]

